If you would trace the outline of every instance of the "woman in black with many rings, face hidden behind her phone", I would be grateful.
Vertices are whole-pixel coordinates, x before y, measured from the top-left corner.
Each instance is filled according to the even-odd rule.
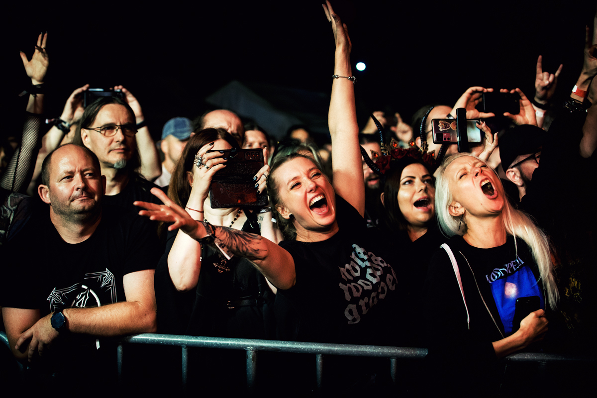
[[[226,165],[219,152],[238,147],[223,129],[204,129],[190,138],[174,169],[168,195],[194,220],[263,234],[276,240],[271,221],[242,208],[213,209],[208,190],[211,178]],[[196,162],[202,156],[205,164]],[[201,166],[199,167],[198,166]],[[263,189],[267,170],[257,175]],[[257,191],[257,188],[256,188]],[[264,217],[260,215],[260,218]],[[158,329],[169,334],[217,337],[272,338],[272,290],[263,275],[245,258],[224,258],[183,232],[168,232],[165,254],[155,276]]]

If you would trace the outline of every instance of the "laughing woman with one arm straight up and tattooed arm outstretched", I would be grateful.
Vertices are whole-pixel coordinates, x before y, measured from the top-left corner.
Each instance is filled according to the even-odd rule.
[[[278,226],[296,240],[278,246],[261,236],[198,223],[157,190],[152,192],[165,205],[136,204],[147,209],[141,215],[173,222],[168,229],[180,227],[189,240],[248,258],[297,311],[298,340],[391,345],[386,338],[394,333],[398,279],[386,248],[368,233],[363,218],[354,88],[346,77],[352,76],[350,40],[329,3],[324,9],[336,38],[329,113],[333,185],[312,159],[298,154],[276,160],[268,178]]]

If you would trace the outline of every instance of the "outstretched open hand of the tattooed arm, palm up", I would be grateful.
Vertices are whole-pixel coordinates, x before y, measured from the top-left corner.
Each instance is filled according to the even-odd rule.
[[[152,221],[173,223],[168,227],[168,231],[173,231],[180,228],[182,232],[186,233],[190,237],[193,237],[194,239],[196,237],[197,230],[199,229],[198,222],[193,220],[189,213],[184,211],[183,208],[168,198],[168,196],[161,189],[152,188],[151,193],[157,196],[164,204],[157,205],[156,203],[141,202],[140,200],[136,200],[133,202],[133,205],[145,209],[141,210],[139,215],[149,217],[149,220]]]

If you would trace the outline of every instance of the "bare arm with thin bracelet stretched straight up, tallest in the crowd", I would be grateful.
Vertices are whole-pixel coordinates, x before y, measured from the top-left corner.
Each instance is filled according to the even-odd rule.
[[[323,5],[336,39],[334,76],[352,76],[350,67],[350,38],[348,28],[331,7]],[[356,123],[354,83],[346,77],[333,79],[328,113],[328,125],[332,138],[333,184],[336,193],[365,214],[365,181],[361,168],[359,127]]]

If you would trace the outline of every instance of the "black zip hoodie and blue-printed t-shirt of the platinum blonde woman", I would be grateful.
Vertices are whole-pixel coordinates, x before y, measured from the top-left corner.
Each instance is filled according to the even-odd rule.
[[[485,377],[496,381],[491,343],[508,335],[516,298],[538,295],[545,309],[537,264],[528,246],[521,239],[516,243],[518,255],[512,236],[504,245],[489,249],[470,246],[458,235],[448,240],[460,271],[470,329],[450,258],[443,248],[433,255],[424,286],[428,358],[441,364],[439,372],[446,380],[454,376],[449,368],[458,373],[456,383],[467,376],[475,379],[473,383],[487,382],[482,381]]]

